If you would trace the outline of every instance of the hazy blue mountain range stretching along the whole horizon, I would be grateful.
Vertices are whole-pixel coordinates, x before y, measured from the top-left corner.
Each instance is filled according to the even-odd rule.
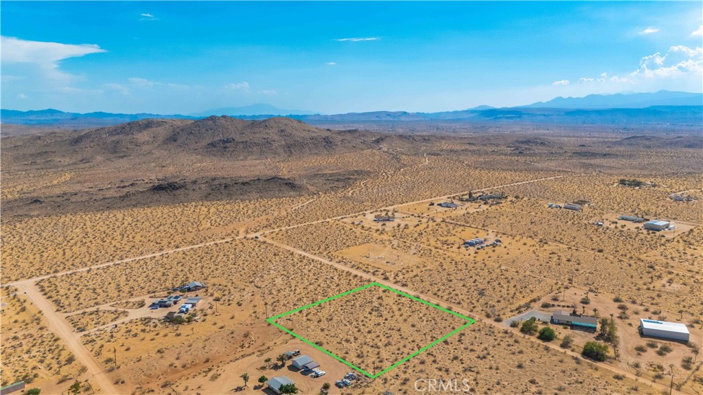
[[[276,115],[312,124],[333,122],[523,122],[536,124],[658,124],[699,127],[703,119],[703,94],[676,91],[588,95],[554,98],[512,108],[476,108],[444,112],[373,111],[320,115],[309,111],[282,110],[267,104],[219,108],[195,115],[148,113],[63,112],[59,110],[0,110],[0,122],[75,129],[103,127],[140,119],[201,119],[227,115],[242,119],[266,119]]]

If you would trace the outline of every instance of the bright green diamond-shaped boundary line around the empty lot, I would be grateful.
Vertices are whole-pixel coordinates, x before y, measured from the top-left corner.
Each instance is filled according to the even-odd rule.
[[[397,361],[397,362],[394,363],[393,365],[390,365],[388,368],[385,368],[384,370],[381,370],[379,373],[376,373],[375,375],[373,375],[373,374],[371,374],[371,373],[368,373],[366,370],[363,370],[362,368],[359,368],[359,366],[356,366],[356,365],[354,365],[353,363],[350,363],[349,361],[344,360],[344,358],[341,358],[340,356],[337,356],[337,355],[333,354],[331,351],[328,351],[327,349],[323,349],[322,347],[318,346],[318,345],[315,344],[314,342],[311,342],[310,340],[308,340],[308,339],[302,337],[301,335],[298,335],[297,333],[293,332],[292,330],[290,330],[290,329],[288,329],[288,328],[285,328],[283,325],[280,325],[280,324],[276,323],[276,320],[278,320],[278,318],[283,318],[283,317],[285,317],[285,316],[289,316],[289,315],[292,314],[292,313],[297,313],[298,311],[301,311],[301,310],[304,310],[304,309],[309,309],[310,307],[317,306],[318,304],[323,304],[323,303],[325,303],[325,302],[330,302],[331,300],[334,300],[334,299],[338,299],[338,298],[340,298],[340,297],[347,296],[348,294],[353,294],[354,292],[359,292],[359,291],[362,291],[362,290],[366,290],[367,288],[370,288],[370,287],[381,287],[381,288],[383,288],[383,289],[385,289],[385,290],[389,290],[389,291],[395,292],[396,294],[399,294],[399,295],[404,296],[404,297],[408,297],[408,298],[410,298],[410,299],[413,299],[413,300],[416,301],[416,302],[420,302],[420,303],[426,304],[427,306],[434,307],[434,309],[439,309],[439,310],[441,310],[441,311],[444,311],[445,313],[451,314],[452,316],[456,316],[456,317],[458,317],[458,318],[461,318],[461,319],[463,319],[463,320],[466,320],[467,322],[466,322],[464,325],[461,325],[459,328],[456,328],[455,330],[453,330],[453,331],[449,332],[448,334],[446,334],[446,335],[440,337],[439,339],[435,340],[434,342],[432,342],[432,343],[430,343],[430,344],[427,344],[427,346],[425,346],[425,347],[419,349],[418,351],[415,351],[413,354],[410,354],[409,356],[406,356],[405,358],[401,359],[400,361]],[[331,356],[331,357],[335,358],[337,361],[340,361],[341,363],[344,363],[344,365],[349,366],[350,368],[352,368],[352,369],[358,371],[359,373],[363,373],[363,375],[366,375],[366,377],[369,377],[369,378],[371,378],[371,379],[375,379],[376,377],[382,375],[383,373],[386,373],[386,372],[388,372],[389,370],[392,370],[393,368],[398,367],[398,366],[401,365],[402,363],[405,363],[405,362],[409,361],[411,358],[413,358],[413,357],[415,357],[415,356],[418,356],[419,354],[423,353],[423,351],[426,351],[427,349],[430,349],[430,347],[433,347],[435,344],[438,344],[439,342],[444,342],[444,340],[448,339],[449,337],[451,337],[451,336],[453,336],[453,335],[456,335],[458,332],[460,332],[461,330],[463,330],[463,329],[466,328],[467,326],[472,325],[472,324],[475,323],[476,321],[473,320],[472,318],[468,318],[467,316],[464,316],[463,314],[457,313],[456,311],[451,311],[451,310],[449,310],[449,309],[445,309],[445,308],[442,307],[442,306],[437,306],[437,304],[427,302],[426,300],[420,299],[420,298],[418,298],[418,297],[414,297],[413,295],[410,295],[410,294],[406,294],[405,292],[401,292],[401,291],[399,291],[399,290],[396,290],[396,289],[394,289],[393,287],[389,287],[388,285],[383,285],[383,284],[381,284],[381,283],[375,283],[375,282],[374,282],[374,283],[370,283],[370,284],[363,285],[363,286],[358,287],[358,288],[354,288],[353,290],[349,290],[349,291],[347,291],[347,292],[342,292],[341,294],[336,294],[336,295],[333,296],[333,297],[328,297],[327,299],[322,299],[322,300],[320,300],[320,301],[318,301],[318,302],[314,302],[314,303],[311,303],[311,304],[307,304],[307,305],[305,305],[305,306],[298,307],[297,309],[293,309],[293,310],[291,310],[291,311],[287,311],[287,312],[285,312],[285,313],[278,314],[277,316],[273,316],[273,317],[271,317],[271,318],[266,318],[266,322],[270,323],[271,325],[276,326],[276,328],[278,328],[278,329],[280,329],[280,330],[283,330],[283,332],[288,333],[288,334],[291,335],[292,337],[295,337],[295,338],[297,338],[297,339],[302,340],[302,341],[305,342],[306,344],[309,344],[310,346],[312,346],[312,347],[314,347],[314,348],[316,348],[316,349],[322,351],[323,353],[327,354],[328,356]]]

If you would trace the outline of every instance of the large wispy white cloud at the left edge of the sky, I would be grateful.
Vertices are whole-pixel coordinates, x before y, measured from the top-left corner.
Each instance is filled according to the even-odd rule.
[[[2,63],[6,65],[31,64],[39,67],[42,77],[70,79],[58,70],[60,60],[77,58],[91,53],[106,52],[95,44],[61,44],[48,41],[30,41],[15,37],[0,37]]]

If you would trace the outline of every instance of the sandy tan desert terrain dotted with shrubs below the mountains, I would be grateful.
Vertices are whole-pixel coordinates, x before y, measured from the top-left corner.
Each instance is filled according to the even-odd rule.
[[[673,378],[673,393],[703,393],[692,132],[653,145],[650,131],[606,127],[368,129],[209,117],[4,135],[2,384],[272,394],[259,379],[285,375],[302,394],[325,383],[330,394],[415,394],[430,379],[467,380],[476,394],[662,394]],[[475,199],[488,194],[500,198]],[[486,247],[464,246],[474,238]],[[193,281],[205,287],[186,289]],[[370,283],[475,323],[339,388],[354,368],[266,321]],[[366,291],[277,323],[369,371],[462,325]],[[178,314],[188,298],[200,299]],[[605,318],[618,340],[510,324],[555,309]],[[690,342],[643,337],[640,318],[683,323]],[[543,328],[555,339],[538,338]],[[581,355],[591,341],[609,346],[604,361]],[[293,368],[281,357],[293,350],[326,374]]]

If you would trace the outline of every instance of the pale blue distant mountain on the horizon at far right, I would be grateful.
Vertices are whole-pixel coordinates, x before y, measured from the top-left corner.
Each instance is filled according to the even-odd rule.
[[[654,93],[616,93],[613,95],[588,95],[582,98],[553,98],[522,108],[647,108],[654,105],[703,105],[703,93],[658,91]]]

